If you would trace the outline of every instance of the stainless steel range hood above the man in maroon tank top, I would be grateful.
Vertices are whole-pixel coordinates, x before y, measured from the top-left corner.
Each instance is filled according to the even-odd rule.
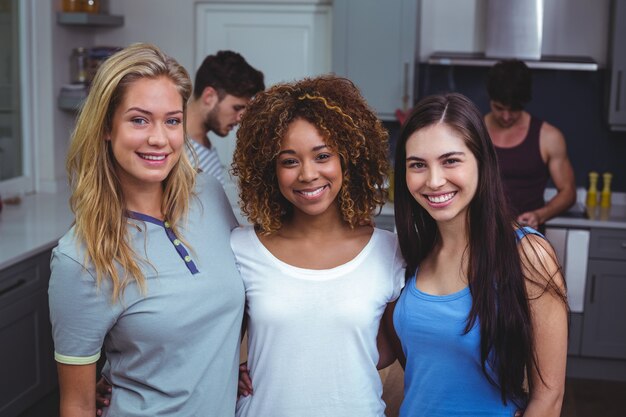
[[[530,68],[596,71],[591,58],[542,56],[543,0],[487,0],[484,53],[435,52],[429,64],[491,66],[521,59]]]

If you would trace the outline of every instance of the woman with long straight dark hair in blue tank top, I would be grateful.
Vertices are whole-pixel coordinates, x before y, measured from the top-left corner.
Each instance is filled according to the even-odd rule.
[[[395,185],[407,283],[386,322],[405,365],[400,415],[558,416],[565,282],[545,238],[512,221],[471,101],[446,94],[416,106]]]

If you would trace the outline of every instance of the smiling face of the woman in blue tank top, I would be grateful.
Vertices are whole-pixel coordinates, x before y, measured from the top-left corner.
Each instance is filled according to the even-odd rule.
[[[437,223],[464,222],[478,188],[478,162],[456,131],[431,125],[406,142],[406,183]]]

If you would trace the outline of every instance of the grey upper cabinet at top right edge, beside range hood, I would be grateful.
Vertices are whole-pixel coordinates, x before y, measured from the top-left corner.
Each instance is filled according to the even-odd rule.
[[[613,2],[612,16],[609,125],[626,131],[626,0]]]

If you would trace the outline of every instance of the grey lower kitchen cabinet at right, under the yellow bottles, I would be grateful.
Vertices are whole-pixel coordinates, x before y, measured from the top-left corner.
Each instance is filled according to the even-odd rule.
[[[592,229],[581,355],[626,359],[626,230]]]

